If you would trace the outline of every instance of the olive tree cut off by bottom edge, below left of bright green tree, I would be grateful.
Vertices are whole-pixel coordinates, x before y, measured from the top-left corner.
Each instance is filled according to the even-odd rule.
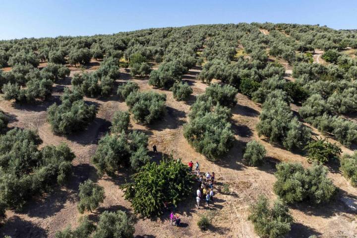
[[[93,238],[132,238],[135,232],[132,220],[123,211],[105,211],[99,216]]]

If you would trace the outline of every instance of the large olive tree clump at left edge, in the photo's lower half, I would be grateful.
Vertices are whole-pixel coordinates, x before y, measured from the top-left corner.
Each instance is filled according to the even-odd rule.
[[[0,204],[20,210],[35,195],[62,185],[75,158],[69,147],[42,143],[35,131],[12,129],[0,135]]]

